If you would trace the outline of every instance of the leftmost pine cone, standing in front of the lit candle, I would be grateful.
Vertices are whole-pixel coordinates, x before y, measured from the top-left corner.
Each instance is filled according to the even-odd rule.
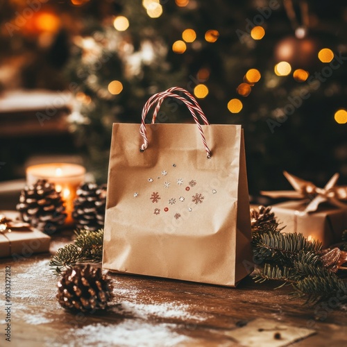
[[[26,186],[16,208],[24,221],[46,232],[56,231],[67,216],[60,193],[47,180],[37,180],[34,185]]]

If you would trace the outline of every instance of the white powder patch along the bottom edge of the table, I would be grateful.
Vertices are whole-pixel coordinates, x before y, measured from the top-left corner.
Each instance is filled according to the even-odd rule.
[[[189,337],[172,331],[175,325],[161,323],[152,325],[144,321],[126,319],[117,325],[95,323],[70,332],[78,338],[80,346],[108,347],[123,346],[170,347],[189,342]]]

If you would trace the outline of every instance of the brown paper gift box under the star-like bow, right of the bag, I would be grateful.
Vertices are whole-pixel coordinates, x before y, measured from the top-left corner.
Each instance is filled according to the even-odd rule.
[[[341,242],[341,235],[347,229],[347,209],[321,204],[315,212],[304,212],[307,203],[287,201],[273,205],[275,213],[284,232],[301,232],[309,239],[318,239],[323,247]]]

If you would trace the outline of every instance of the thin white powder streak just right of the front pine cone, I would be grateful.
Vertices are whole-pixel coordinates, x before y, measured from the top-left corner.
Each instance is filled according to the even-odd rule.
[[[194,321],[205,321],[207,317],[196,316],[189,313],[189,305],[179,303],[162,303],[162,304],[142,304],[131,303],[130,301],[121,301],[119,305],[112,308],[113,312],[118,314],[131,314],[136,318],[148,319],[150,316],[159,318],[176,318]]]

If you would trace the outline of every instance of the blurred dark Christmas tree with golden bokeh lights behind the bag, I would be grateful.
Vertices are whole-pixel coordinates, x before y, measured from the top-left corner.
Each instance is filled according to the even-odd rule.
[[[288,187],[283,169],[317,185],[338,171],[347,183],[345,1],[48,5],[64,18],[60,35],[71,37],[71,131],[99,180],[112,122],[139,122],[149,96],[178,85],[194,92],[211,123],[244,126],[253,194]],[[164,121],[190,121],[184,108],[163,111]]]

